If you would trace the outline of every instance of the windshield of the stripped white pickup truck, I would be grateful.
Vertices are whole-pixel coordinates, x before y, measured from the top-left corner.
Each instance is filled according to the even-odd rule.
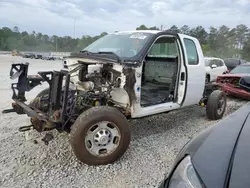
[[[140,53],[146,42],[154,34],[152,33],[115,33],[96,40],[83,49],[92,53],[113,52],[120,58],[131,58]]]

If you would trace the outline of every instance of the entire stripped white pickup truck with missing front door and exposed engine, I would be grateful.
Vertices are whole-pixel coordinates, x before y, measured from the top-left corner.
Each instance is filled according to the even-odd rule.
[[[72,53],[61,71],[29,76],[28,67],[12,65],[11,79],[18,79],[11,86],[14,103],[3,112],[31,118],[21,131],[69,132],[76,157],[89,165],[112,163],[124,154],[130,118],[201,105],[216,120],[226,109],[225,93],[205,85],[199,41],[187,35],[116,32]],[[27,103],[25,92],[42,82],[49,88]]]

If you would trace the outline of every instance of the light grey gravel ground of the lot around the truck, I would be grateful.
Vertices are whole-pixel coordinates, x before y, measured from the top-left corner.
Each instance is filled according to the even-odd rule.
[[[30,74],[62,65],[61,61],[1,55],[1,111],[12,102],[10,64],[27,60]],[[27,98],[45,87],[34,89]],[[225,116],[245,103],[229,99]],[[46,146],[41,142],[43,133],[18,132],[19,126],[29,125],[26,115],[0,113],[0,187],[156,187],[182,146],[215,122],[208,121],[205,109],[199,106],[131,120],[132,141],[123,157],[111,165],[91,167],[76,160],[66,133],[53,131],[55,139]]]

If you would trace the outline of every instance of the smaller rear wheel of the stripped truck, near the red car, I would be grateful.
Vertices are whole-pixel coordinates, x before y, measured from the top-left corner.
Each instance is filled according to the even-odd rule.
[[[223,102],[223,104],[222,104]],[[221,119],[227,106],[226,94],[221,90],[213,91],[208,97],[206,112],[210,120]]]

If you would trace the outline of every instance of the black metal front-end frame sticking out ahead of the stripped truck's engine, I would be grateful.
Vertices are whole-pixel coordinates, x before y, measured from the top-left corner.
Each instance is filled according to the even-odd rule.
[[[79,65],[72,71],[45,71],[38,72],[37,75],[29,76],[28,66],[28,63],[12,64],[10,78],[12,80],[18,78],[17,83],[12,83],[11,85],[13,91],[12,99],[14,100],[14,103],[12,103],[12,109],[4,110],[3,113],[16,112],[17,114],[27,114],[31,117],[31,122],[34,128],[39,132],[44,131],[42,127],[46,127],[48,130],[56,128],[58,131],[64,131],[65,125],[71,118],[70,115],[73,115],[72,113],[74,113],[74,105],[76,102],[73,99],[71,104],[69,104],[69,96],[76,92],[75,90],[69,89],[70,75],[81,69],[82,65]],[[14,73],[14,71],[16,72]],[[64,80],[65,84],[63,87]],[[25,103],[25,101],[27,101],[25,92],[32,90],[42,82],[47,82],[50,88],[47,113]],[[69,92],[69,90],[71,92]],[[71,111],[67,112],[67,108],[70,108]],[[67,113],[68,117],[66,117]],[[28,127],[30,126],[20,127],[19,130],[25,131]]]

